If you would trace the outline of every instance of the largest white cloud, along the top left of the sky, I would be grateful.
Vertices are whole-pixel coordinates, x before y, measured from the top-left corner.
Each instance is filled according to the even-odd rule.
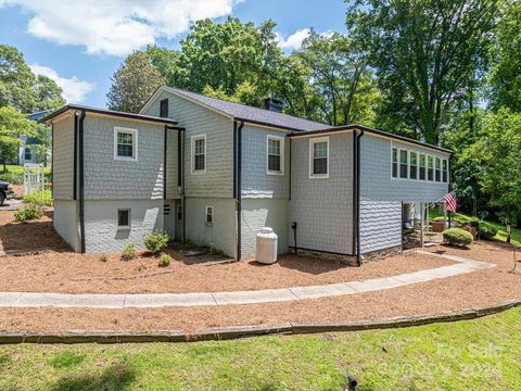
[[[89,54],[126,55],[187,31],[190,23],[231,13],[237,0],[0,0],[33,13],[27,30]]]

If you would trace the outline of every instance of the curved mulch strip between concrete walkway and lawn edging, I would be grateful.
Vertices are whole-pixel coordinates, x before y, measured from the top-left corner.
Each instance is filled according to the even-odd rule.
[[[511,253],[478,243],[471,250],[447,249],[459,256],[487,261],[495,268],[382,291],[284,303],[155,310],[0,310],[0,329],[30,331],[187,330],[281,323],[328,323],[394,316],[443,314],[521,298],[521,276],[508,273]]]

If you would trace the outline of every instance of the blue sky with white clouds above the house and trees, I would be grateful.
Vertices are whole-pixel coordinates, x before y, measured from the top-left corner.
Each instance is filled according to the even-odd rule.
[[[0,0],[0,43],[15,46],[71,103],[105,106],[111,76],[134,49],[178,48],[191,22],[227,15],[277,23],[285,51],[308,28],[344,33],[343,0]]]

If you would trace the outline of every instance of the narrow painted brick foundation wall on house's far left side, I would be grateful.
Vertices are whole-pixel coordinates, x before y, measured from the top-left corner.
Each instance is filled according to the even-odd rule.
[[[78,201],[54,200],[53,225],[74,251],[80,251]]]

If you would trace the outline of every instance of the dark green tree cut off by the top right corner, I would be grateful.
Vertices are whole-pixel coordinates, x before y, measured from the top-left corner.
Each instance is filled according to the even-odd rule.
[[[491,106],[521,112],[521,2],[505,0],[495,34],[491,72]]]

